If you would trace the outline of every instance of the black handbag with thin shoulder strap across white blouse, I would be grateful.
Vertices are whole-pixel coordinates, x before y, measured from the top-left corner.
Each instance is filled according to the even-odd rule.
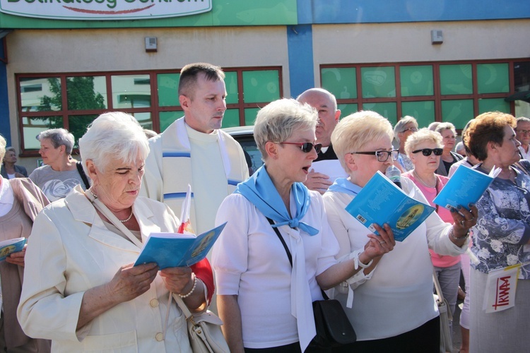
[[[271,225],[274,224],[269,217],[267,220]],[[291,256],[285,240],[283,240],[277,227],[272,227],[272,229],[280,239],[289,258],[289,263],[293,267],[293,256]],[[309,348],[341,347],[355,342],[357,335],[355,335],[355,330],[353,330],[341,303],[336,299],[329,299],[324,291],[322,291],[322,296],[324,300],[313,301],[314,325],[317,329],[317,335],[314,336]]]

